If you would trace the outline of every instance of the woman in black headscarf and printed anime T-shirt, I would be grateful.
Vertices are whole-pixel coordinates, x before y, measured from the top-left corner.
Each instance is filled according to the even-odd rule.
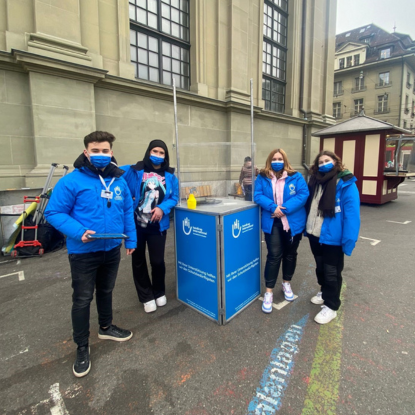
[[[179,182],[169,166],[169,151],[162,140],[153,140],[142,161],[122,166],[122,176],[134,199],[137,248],[132,255],[138,299],[146,313],[166,305],[164,250],[169,213],[179,201]],[[146,261],[150,257],[151,276]]]

